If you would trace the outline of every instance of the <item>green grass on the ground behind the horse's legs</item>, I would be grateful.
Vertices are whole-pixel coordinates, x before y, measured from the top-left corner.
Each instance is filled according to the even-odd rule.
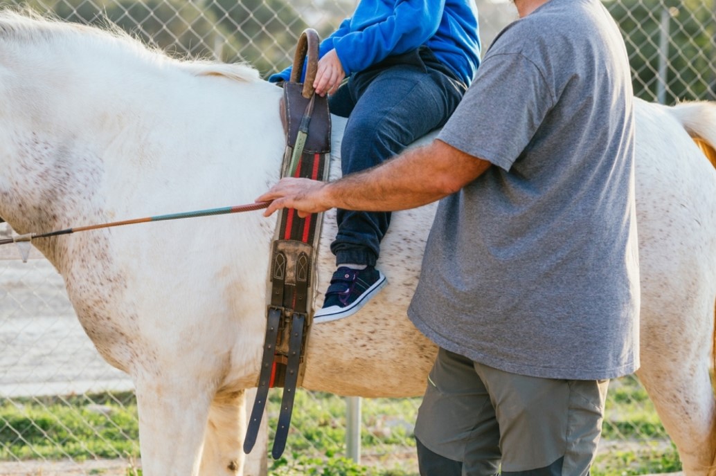
[[[269,394],[270,441],[280,390]],[[286,452],[269,457],[276,476],[417,476],[415,422],[420,399],[363,399],[362,462],[345,457],[345,400],[299,391]],[[0,460],[139,460],[137,407],[130,393],[5,399],[0,403]],[[611,383],[594,476],[681,470],[675,447],[637,379]],[[98,473],[101,474],[101,473]],[[133,467],[127,476],[141,476]]]

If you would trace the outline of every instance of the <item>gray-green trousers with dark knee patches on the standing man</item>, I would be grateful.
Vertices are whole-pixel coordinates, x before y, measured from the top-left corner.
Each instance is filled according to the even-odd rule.
[[[589,475],[608,380],[526,377],[440,349],[417,414],[421,476]]]

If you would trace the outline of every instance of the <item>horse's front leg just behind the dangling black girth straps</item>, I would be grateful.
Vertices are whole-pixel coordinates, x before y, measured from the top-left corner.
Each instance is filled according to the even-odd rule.
[[[256,389],[218,394],[211,403],[201,457],[201,476],[266,476],[266,425],[262,424],[251,455],[243,453],[247,405]],[[250,411],[250,405],[248,405]],[[264,419],[265,421],[265,419]],[[243,468],[243,472],[241,469]]]

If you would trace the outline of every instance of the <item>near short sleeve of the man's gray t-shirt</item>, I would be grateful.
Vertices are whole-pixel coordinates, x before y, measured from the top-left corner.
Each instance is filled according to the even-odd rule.
[[[488,54],[437,138],[510,170],[555,102],[548,80],[530,59]]]

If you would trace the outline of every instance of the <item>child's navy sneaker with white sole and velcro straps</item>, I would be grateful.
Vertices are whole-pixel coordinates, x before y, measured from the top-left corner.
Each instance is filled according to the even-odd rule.
[[[383,273],[373,266],[365,269],[341,266],[333,273],[323,309],[316,311],[314,322],[335,321],[355,314],[386,282]]]

